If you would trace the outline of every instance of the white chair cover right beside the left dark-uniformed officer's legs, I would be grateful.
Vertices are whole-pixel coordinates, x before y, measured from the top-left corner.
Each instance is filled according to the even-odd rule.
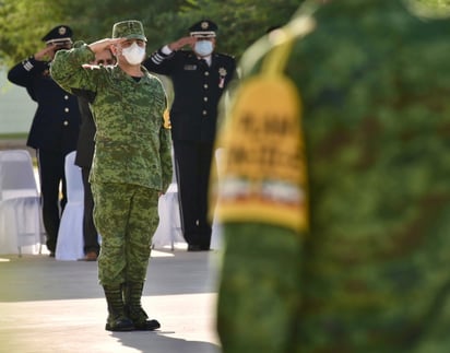
[[[55,252],[57,260],[76,261],[84,257],[83,212],[84,187],[81,168],[74,164],[76,152],[66,156],[66,184],[68,202],[61,215],[58,242]]]

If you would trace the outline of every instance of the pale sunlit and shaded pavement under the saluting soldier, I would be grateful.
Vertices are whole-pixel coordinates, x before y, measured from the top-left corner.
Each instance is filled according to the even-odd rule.
[[[0,352],[218,353],[220,257],[217,250],[154,250],[142,303],[162,328],[109,332],[96,262],[0,256]]]

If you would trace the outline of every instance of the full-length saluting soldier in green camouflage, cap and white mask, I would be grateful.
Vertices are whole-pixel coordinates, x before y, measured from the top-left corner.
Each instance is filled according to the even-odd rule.
[[[164,128],[166,94],[141,62],[146,38],[142,23],[123,21],[112,39],[75,43],[55,58],[51,73],[68,91],[87,90],[96,123],[90,181],[94,222],[102,235],[98,276],[108,303],[106,329],[154,330],[141,307],[151,239],[158,223],[158,195],[171,179],[170,136]],[[110,48],[115,67],[84,69],[96,52]]]

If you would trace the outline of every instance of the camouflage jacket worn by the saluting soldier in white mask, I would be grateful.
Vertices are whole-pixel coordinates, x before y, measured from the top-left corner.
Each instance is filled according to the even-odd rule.
[[[97,132],[91,183],[121,183],[166,190],[171,180],[170,134],[163,126],[166,94],[145,68],[135,82],[118,66],[84,69],[94,60],[84,43],[58,52],[54,80],[69,92],[95,93],[92,102]]]

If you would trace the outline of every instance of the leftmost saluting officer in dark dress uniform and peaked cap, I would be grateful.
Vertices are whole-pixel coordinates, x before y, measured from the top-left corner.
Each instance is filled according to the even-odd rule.
[[[49,74],[55,52],[72,47],[72,30],[59,25],[42,40],[46,47],[14,66],[8,80],[25,87],[37,103],[26,144],[36,150],[47,248],[55,256],[60,214],[67,203],[64,157],[76,148],[80,111],[76,97],[63,91]],[[62,199],[58,204],[60,183]]]

